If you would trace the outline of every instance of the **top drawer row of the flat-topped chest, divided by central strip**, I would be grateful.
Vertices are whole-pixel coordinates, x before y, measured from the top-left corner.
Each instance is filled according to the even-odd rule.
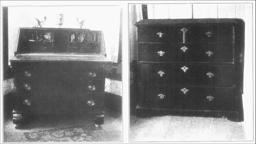
[[[138,27],[139,42],[233,42],[233,26],[142,26]]]

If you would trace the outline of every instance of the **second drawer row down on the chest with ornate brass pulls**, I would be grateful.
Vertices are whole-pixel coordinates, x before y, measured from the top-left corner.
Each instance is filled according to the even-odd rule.
[[[233,62],[232,44],[139,44],[141,62]]]

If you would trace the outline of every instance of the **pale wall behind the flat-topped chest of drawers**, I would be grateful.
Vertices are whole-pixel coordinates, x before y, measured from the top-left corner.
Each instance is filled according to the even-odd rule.
[[[138,4],[140,5],[140,4]],[[137,59],[134,23],[142,19],[141,5],[129,5],[130,62]],[[253,138],[253,10],[252,3],[148,4],[148,19],[241,18],[245,23],[244,128],[246,139]]]

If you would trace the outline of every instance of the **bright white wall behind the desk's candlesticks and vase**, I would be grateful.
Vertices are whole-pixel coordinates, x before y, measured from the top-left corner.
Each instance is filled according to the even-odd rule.
[[[9,59],[14,57],[19,27],[32,27],[35,18],[47,21],[43,28],[58,28],[55,14],[64,14],[61,28],[80,28],[76,18],[85,20],[83,28],[101,30],[104,33],[107,56],[117,62],[119,46],[120,6],[10,6],[9,19]]]

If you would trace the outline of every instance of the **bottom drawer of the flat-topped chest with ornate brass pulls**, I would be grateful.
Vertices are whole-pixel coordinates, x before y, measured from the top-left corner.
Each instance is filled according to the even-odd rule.
[[[144,105],[188,110],[233,110],[233,88],[142,85]]]

